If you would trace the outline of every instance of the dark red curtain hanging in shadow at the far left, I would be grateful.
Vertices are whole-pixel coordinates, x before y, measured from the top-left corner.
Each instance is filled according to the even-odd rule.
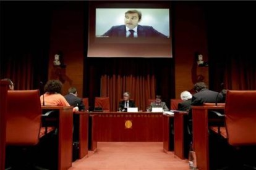
[[[15,90],[47,81],[50,11],[46,2],[1,2],[0,76],[11,78]]]

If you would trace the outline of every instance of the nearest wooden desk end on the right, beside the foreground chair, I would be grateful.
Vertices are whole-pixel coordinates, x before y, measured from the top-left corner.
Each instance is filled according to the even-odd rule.
[[[224,106],[192,106],[193,147],[197,156],[197,168],[203,170],[210,168],[208,110],[224,110]]]

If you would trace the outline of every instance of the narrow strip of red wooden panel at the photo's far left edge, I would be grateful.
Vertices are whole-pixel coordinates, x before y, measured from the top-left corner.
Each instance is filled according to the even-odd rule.
[[[9,83],[0,81],[0,170],[4,170],[6,161],[6,112],[7,112],[7,91]]]

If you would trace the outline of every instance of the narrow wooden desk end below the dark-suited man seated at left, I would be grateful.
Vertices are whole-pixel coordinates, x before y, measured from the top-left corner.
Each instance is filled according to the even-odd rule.
[[[79,159],[88,154],[88,117],[87,111],[75,111],[75,116],[79,117]]]

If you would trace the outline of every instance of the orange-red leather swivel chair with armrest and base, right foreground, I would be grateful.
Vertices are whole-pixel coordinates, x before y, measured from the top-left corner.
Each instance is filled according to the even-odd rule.
[[[210,127],[231,148],[228,168],[256,169],[256,91],[228,91],[224,127]],[[253,154],[250,155],[250,152]],[[247,156],[247,157],[246,157]]]

